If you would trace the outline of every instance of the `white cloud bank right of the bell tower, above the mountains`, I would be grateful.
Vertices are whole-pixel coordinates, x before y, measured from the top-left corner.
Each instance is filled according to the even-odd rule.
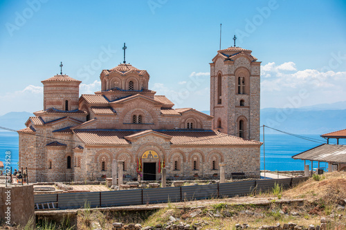
[[[309,97],[300,99],[295,107],[344,101],[346,97],[346,72],[297,70],[292,61],[270,62],[262,66],[261,77],[262,108],[282,108],[302,91]]]

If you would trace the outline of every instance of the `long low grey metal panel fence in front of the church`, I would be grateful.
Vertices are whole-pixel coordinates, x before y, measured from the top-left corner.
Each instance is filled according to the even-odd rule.
[[[289,187],[295,186],[307,179],[308,177],[248,180],[224,184],[167,187],[158,189],[43,194],[34,195],[34,200],[35,203],[57,202],[57,208],[59,209],[79,209],[85,207],[85,205],[95,208],[136,204],[156,204],[248,195],[254,191],[271,190],[275,183],[280,184],[284,189],[288,189]]]

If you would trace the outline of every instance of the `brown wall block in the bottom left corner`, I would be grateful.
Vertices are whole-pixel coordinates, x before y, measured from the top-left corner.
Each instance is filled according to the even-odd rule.
[[[33,185],[1,185],[0,204],[0,219],[6,224],[25,226],[30,218],[35,222]]]

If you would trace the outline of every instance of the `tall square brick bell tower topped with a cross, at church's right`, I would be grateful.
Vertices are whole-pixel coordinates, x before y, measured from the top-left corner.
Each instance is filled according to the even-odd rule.
[[[210,63],[212,128],[260,141],[260,64],[251,50],[231,46]]]

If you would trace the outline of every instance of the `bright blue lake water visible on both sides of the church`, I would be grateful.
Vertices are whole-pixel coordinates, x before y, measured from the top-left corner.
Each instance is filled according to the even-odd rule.
[[[291,157],[309,148],[313,148],[322,143],[325,139],[320,135],[302,135],[304,137],[314,138],[318,141],[311,142],[303,140],[298,137],[286,135],[282,133],[268,133],[265,134],[265,162],[266,170],[270,171],[291,171],[291,170],[304,170],[303,160],[293,160]],[[261,135],[263,141],[263,135]],[[331,143],[331,142],[330,142]],[[332,143],[331,143],[332,144]],[[340,144],[346,144],[346,140],[340,140]],[[19,159],[18,151],[18,134],[13,132],[0,132],[0,161],[5,162],[6,151],[11,152],[11,166],[18,168],[17,162]],[[307,162],[310,164],[310,162]],[[327,164],[321,163],[321,167],[326,167]],[[313,168],[317,167],[317,162],[313,163]],[[261,148],[261,169],[264,169],[264,154],[263,145]]]

